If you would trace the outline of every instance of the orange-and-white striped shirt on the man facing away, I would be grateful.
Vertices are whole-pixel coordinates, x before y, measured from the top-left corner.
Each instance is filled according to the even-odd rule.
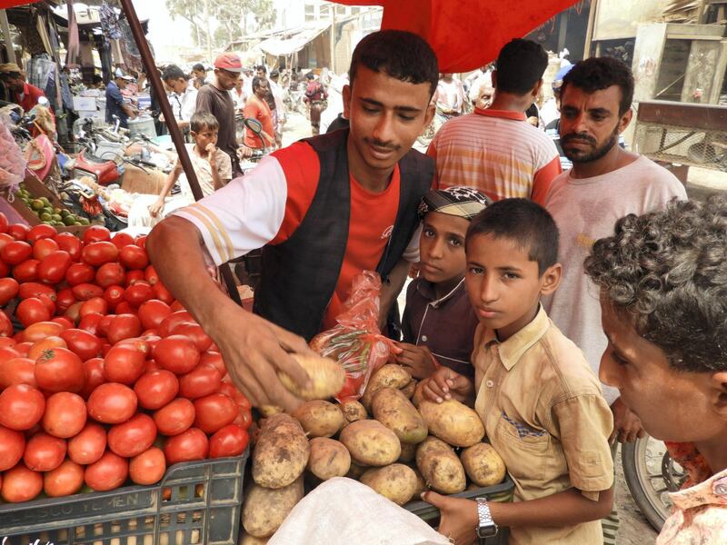
[[[561,173],[551,138],[519,112],[476,108],[443,124],[427,154],[436,161],[440,189],[467,185],[494,201],[522,197],[542,204]]]

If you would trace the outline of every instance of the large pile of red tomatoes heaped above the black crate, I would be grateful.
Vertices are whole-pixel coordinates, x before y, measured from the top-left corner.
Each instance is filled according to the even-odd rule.
[[[245,450],[250,403],[144,240],[0,213],[3,500],[154,484],[174,463]]]

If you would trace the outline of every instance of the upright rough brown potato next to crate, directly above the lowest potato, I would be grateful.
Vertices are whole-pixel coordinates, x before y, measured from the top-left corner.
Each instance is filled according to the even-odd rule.
[[[310,447],[300,423],[284,412],[265,420],[253,451],[253,479],[277,489],[291,484],[305,470]]]

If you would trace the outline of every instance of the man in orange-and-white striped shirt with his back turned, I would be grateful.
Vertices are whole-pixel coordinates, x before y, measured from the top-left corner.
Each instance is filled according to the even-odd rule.
[[[548,55],[534,42],[515,39],[503,47],[490,107],[448,121],[427,150],[440,189],[467,185],[493,201],[523,197],[543,204],[561,162],[551,138],[526,122],[525,110],[547,65]]]

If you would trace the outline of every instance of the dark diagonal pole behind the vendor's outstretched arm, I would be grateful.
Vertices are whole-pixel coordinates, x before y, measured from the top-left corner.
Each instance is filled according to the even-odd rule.
[[[149,84],[151,84],[154,89],[154,95],[156,96],[156,100],[159,101],[159,106],[162,108],[164,119],[169,121],[167,123],[167,128],[169,129],[169,134],[172,136],[172,142],[174,143],[174,148],[179,156],[179,162],[182,163],[182,168],[184,169],[184,174],[186,174],[187,182],[189,182],[189,187],[192,189],[194,200],[199,201],[204,195],[202,194],[202,189],[197,181],[197,174],[194,173],[194,168],[192,167],[192,162],[189,159],[189,154],[187,154],[182,132],[179,130],[177,124],[174,123],[172,106],[169,104],[169,99],[164,92],[164,84],[162,84],[162,79],[159,77],[159,73],[156,70],[154,57],[149,49],[149,44],[146,42],[142,25],[139,23],[139,17],[136,15],[136,10],[134,9],[132,0],[121,0],[121,6],[122,9],[124,9],[126,20],[129,22],[129,26],[131,27],[131,32],[134,35],[134,42],[136,42],[136,46],[139,48],[139,53],[142,55],[142,64],[144,64],[144,70],[146,71],[149,79]],[[223,263],[220,267],[220,273],[222,274],[224,284],[227,287],[227,292],[232,300],[237,304],[242,304],[240,301],[240,294],[237,292],[237,286],[234,283],[233,273],[227,263]]]

